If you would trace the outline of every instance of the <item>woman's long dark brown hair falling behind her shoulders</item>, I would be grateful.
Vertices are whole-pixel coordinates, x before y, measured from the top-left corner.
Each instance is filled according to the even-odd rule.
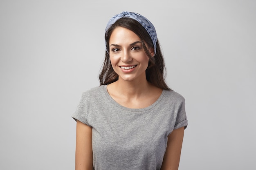
[[[110,26],[110,28],[105,33],[105,40],[107,42],[106,47],[109,51],[109,39],[110,35],[117,27],[124,27],[133,31],[135,34],[139,36],[141,39],[144,51],[148,55],[148,68],[146,69],[146,79],[148,82],[152,83],[153,85],[165,89],[171,90],[166,82],[165,82],[165,65],[164,65],[164,57],[162,55],[162,51],[159,46],[159,42],[157,40],[157,50],[154,57],[151,56],[148,47],[154,47],[153,42],[148,35],[148,32],[144,27],[136,20],[132,18],[120,18],[114,24]],[[145,44],[146,43],[146,44]],[[118,75],[115,73],[114,69],[112,68],[109,53],[106,51],[105,60],[103,62],[103,66],[101,69],[101,73],[99,75],[100,85],[106,85],[118,80]]]

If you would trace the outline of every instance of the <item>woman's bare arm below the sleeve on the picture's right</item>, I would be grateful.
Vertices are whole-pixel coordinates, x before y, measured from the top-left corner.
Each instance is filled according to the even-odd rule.
[[[178,170],[184,136],[184,127],[173,130],[168,136],[161,170]]]

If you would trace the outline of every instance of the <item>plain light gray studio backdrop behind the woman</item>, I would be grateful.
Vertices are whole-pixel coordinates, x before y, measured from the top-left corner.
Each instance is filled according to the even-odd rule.
[[[157,30],[186,98],[180,170],[256,169],[255,0],[1,0],[0,169],[72,170],[81,93],[99,86],[104,30],[121,11]]]

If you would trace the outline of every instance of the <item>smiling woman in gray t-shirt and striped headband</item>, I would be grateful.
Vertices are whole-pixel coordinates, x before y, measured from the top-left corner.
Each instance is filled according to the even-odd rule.
[[[153,24],[122,12],[106,26],[101,86],[83,93],[73,114],[76,170],[177,170],[184,98],[164,81]]]

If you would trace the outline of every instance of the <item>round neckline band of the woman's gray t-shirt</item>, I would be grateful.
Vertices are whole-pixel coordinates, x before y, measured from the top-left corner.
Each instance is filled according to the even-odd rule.
[[[128,107],[125,107],[125,106],[122,106],[121,104],[117,103],[111,96],[110,94],[108,93],[108,89],[107,89],[107,86],[108,85],[103,85],[103,91],[105,93],[105,95],[108,97],[108,99],[110,100],[110,102],[112,102],[115,106],[123,109],[123,110],[127,110],[127,111],[132,111],[132,112],[141,112],[141,111],[146,111],[146,110],[149,110],[153,107],[155,107],[160,101],[161,99],[163,98],[164,94],[166,93],[166,90],[162,90],[162,93],[161,95],[158,97],[158,99],[153,103],[151,104],[150,106],[147,106],[145,108],[128,108]]]

